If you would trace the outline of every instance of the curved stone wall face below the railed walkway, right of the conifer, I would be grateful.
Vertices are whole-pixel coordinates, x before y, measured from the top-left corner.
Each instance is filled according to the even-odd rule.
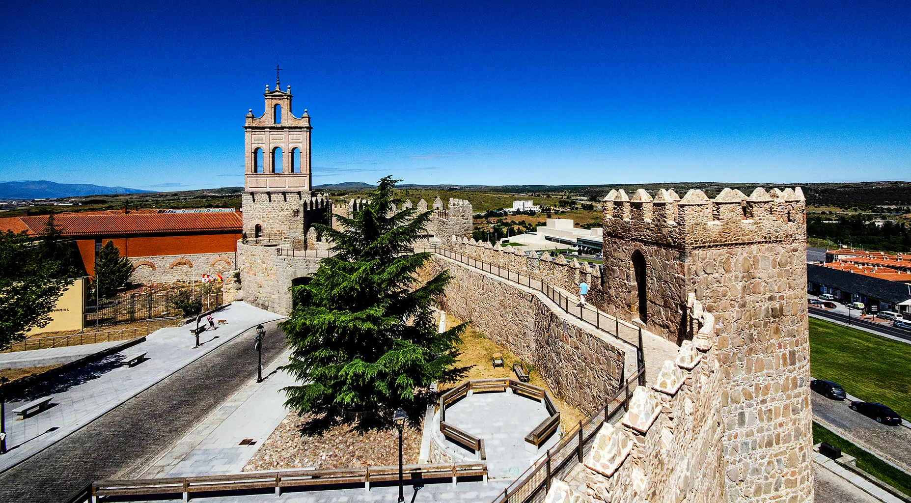
[[[534,365],[554,395],[593,414],[616,393],[623,350],[576,318],[551,309],[543,293],[434,255],[428,272],[445,269],[452,275],[445,311]]]

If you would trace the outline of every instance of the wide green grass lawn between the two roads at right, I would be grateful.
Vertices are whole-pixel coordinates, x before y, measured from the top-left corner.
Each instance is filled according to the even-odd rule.
[[[911,344],[810,318],[810,373],[911,420]]]

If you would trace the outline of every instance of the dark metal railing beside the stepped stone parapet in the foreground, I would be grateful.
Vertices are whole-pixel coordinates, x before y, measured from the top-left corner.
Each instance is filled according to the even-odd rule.
[[[604,423],[617,424],[622,414],[629,409],[630,397],[637,385],[641,385],[640,377],[645,375],[645,367],[640,366],[635,375],[632,375],[612,396],[604,408],[585,421],[579,421],[567,435],[563,436],[558,444],[548,449],[548,452],[537,458],[537,461],[528,467],[503,493],[494,499],[493,503],[531,503],[541,502],[550,490],[554,479],[564,479],[569,473],[582,463],[587,449],[591,447],[595,436]]]

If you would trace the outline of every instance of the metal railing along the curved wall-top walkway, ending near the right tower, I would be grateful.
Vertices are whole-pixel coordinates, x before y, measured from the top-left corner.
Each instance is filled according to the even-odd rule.
[[[499,265],[479,261],[473,257],[453,252],[442,247],[434,247],[434,252],[456,262],[462,262],[466,265],[480,269],[481,271],[496,274],[511,282],[517,282],[522,286],[544,293],[547,295],[548,299],[557,303],[563,311],[572,314],[584,322],[595,325],[599,330],[607,332],[625,343],[632,344],[638,348],[641,347],[640,339],[642,329],[639,326],[624,322],[614,316],[601,313],[599,310],[589,305],[580,305],[577,297],[571,296],[565,290],[561,290],[548,282],[533,278],[527,274],[522,274],[521,272],[504,269]]]

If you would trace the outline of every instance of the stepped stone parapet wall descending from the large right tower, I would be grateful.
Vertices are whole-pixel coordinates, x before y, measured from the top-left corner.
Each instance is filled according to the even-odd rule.
[[[726,500],[725,479],[740,477],[743,469],[762,481],[750,488],[757,497],[783,484],[758,467],[725,466],[720,407],[725,375],[713,350],[714,319],[696,307],[697,340],[684,342],[675,361],[664,363],[653,387],[635,389],[629,412],[616,425],[601,426],[583,463],[551,486],[556,494],[550,498],[715,503]]]

